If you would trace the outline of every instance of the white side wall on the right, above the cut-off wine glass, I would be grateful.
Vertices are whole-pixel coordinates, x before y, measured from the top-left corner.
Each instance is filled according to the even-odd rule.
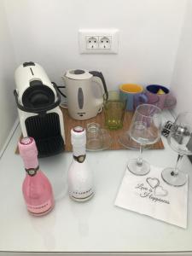
[[[184,15],[183,29],[172,77],[172,90],[177,97],[176,113],[192,112],[192,1]]]

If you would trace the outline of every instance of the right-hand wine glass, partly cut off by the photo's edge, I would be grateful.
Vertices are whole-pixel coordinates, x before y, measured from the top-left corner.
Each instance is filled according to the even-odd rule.
[[[173,186],[183,186],[188,179],[187,174],[178,169],[178,163],[183,155],[192,154],[192,113],[179,113],[172,125],[167,141],[171,148],[177,152],[175,167],[167,167],[161,173],[163,180]]]

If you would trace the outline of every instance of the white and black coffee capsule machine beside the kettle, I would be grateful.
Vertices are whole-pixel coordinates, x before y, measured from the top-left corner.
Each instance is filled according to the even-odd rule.
[[[14,91],[23,137],[33,137],[38,157],[59,154],[65,148],[61,96],[44,68],[25,62],[15,70]]]

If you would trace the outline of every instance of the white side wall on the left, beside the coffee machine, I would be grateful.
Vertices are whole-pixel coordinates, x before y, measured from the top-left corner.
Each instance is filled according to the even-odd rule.
[[[0,151],[9,131],[15,123],[16,108],[13,90],[15,87],[13,73],[15,55],[9,35],[9,27],[0,1]]]

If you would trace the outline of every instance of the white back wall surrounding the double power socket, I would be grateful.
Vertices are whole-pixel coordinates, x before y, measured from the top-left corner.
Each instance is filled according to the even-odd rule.
[[[17,64],[37,61],[61,84],[69,68],[101,70],[109,88],[170,85],[185,0],[4,0]],[[79,55],[79,28],[119,28],[119,55]]]

